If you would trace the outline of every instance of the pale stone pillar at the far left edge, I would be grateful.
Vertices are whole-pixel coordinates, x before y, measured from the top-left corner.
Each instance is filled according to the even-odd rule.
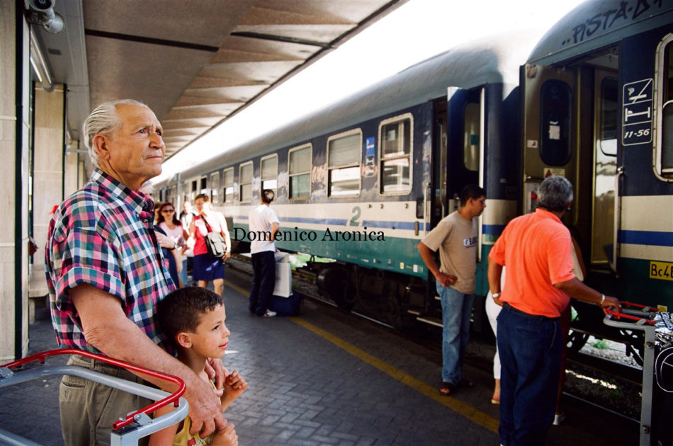
[[[28,25],[0,14],[0,362],[28,352]]]

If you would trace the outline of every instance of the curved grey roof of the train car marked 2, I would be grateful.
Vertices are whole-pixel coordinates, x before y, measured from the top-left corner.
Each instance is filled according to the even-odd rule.
[[[264,154],[271,147],[291,147],[318,135],[349,130],[365,120],[446,96],[448,86],[474,88],[504,83],[514,88],[519,83],[519,66],[534,44],[529,35],[530,32],[507,33],[454,47],[194,166],[181,177],[203,173],[207,170],[204,164],[235,164]]]

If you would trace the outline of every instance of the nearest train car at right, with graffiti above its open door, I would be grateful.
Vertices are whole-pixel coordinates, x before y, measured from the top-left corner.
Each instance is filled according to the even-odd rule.
[[[565,224],[586,282],[673,307],[673,1],[588,1],[521,67],[524,207],[550,173],[575,186]],[[575,328],[601,311],[574,303]],[[595,317],[594,317],[595,316]]]

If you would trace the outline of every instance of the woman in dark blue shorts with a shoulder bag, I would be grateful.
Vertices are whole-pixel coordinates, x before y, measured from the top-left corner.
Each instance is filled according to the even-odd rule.
[[[196,215],[189,225],[189,235],[194,239],[194,265],[192,267],[193,279],[198,286],[207,287],[210,280],[218,295],[225,290],[225,260],[231,256],[232,242],[229,237],[227,221],[221,212],[213,210],[210,198],[203,193],[196,195],[194,199]],[[205,246],[205,236],[208,232],[220,232],[227,244],[227,252],[221,258],[213,258]]]

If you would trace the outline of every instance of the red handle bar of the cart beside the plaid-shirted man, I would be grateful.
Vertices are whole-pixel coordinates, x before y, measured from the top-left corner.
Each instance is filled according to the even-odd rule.
[[[21,358],[19,360],[9,362],[9,364],[2,365],[0,367],[8,367],[8,368],[13,368],[17,367],[19,365],[26,364],[28,362],[33,362],[35,360],[39,360],[40,364],[45,363],[45,358],[48,358],[50,356],[56,356],[56,355],[80,355],[80,356],[85,356],[86,358],[92,358],[101,362],[107,362],[108,364],[116,365],[118,367],[123,367],[126,370],[132,370],[134,372],[140,372],[142,374],[147,374],[151,377],[154,378],[159,378],[159,379],[164,379],[165,381],[170,381],[175,384],[178,384],[179,389],[175,391],[173,394],[170,394],[169,396],[166,396],[166,398],[156,401],[153,404],[150,404],[149,406],[142,408],[138,411],[132,412],[126,416],[124,420],[118,420],[115,421],[112,424],[113,430],[118,430],[119,428],[123,428],[125,425],[128,425],[135,421],[135,416],[138,415],[139,413],[145,413],[145,415],[149,416],[150,413],[156,411],[158,408],[164,407],[168,405],[169,403],[173,403],[174,406],[179,406],[179,399],[180,397],[185,393],[187,386],[183,382],[182,379],[179,377],[174,377],[171,374],[166,374],[162,372],[157,372],[155,370],[149,370],[145,369],[143,367],[139,367],[137,365],[132,365],[129,364],[128,362],[120,361],[120,360],[115,360],[113,358],[108,358],[107,356],[103,355],[97,355],[96,353],[91,353],[86,350],[78,350],[77,348],[58,348],[56,350],[47,350],[44,352],[40,353],[35,353],[35,355],[30,355],[26,356],[26,358]]]

